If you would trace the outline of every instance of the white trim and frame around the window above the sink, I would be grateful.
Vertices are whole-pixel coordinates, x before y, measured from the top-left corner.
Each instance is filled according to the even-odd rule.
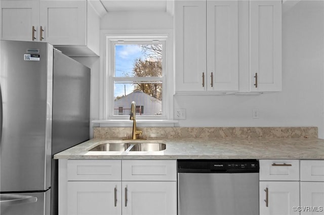
[[[147,122],[148,126],[160,126],[160,123],[166,125],[168,123],[176,123],[173,120],[173,95],[174,95],[174,64],[173,64],[173,30],[101,30],[100,38],[100,80],[99,80],[99,120],[93,121],[93,123],[99,123],[103,126],[121,126],[125,124],[125,120],[128,120],[128,116],[112,116],[113,109],[113,94],[107,92],[113,89],[113,78],[110,77],[111,65],[108,51],[110,50],[109,40],[123,40],[124,39],[136,39],[146,40],[157,39],[165,41],[165,80],[163,97],[163,111],[166,113],[163,116],[138,116],[138,122]],[[120,122],[120,123],[119,123]]]

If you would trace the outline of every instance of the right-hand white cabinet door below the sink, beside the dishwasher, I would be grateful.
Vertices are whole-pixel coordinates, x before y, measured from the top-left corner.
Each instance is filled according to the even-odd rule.
[[[123,214],[176,215],[176,182],[123,182]]]

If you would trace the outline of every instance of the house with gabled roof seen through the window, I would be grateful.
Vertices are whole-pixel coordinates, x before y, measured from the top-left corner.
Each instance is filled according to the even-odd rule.
[[[136,90],[114,101],[113,114],[129,115],[132,101],[136,103],[136,115],[154,116],[161,113],[162,101]]]

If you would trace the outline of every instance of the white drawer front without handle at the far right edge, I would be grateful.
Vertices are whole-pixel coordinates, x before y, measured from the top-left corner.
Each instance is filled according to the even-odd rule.
[[[301,181],[324,181],[324,160],[301,160]]]

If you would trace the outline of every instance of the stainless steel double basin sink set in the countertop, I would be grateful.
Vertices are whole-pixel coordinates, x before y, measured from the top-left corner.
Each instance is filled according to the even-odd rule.
[[[160,142],[105,142],[89,151],[162,151],[166,149],[165,143]]]

